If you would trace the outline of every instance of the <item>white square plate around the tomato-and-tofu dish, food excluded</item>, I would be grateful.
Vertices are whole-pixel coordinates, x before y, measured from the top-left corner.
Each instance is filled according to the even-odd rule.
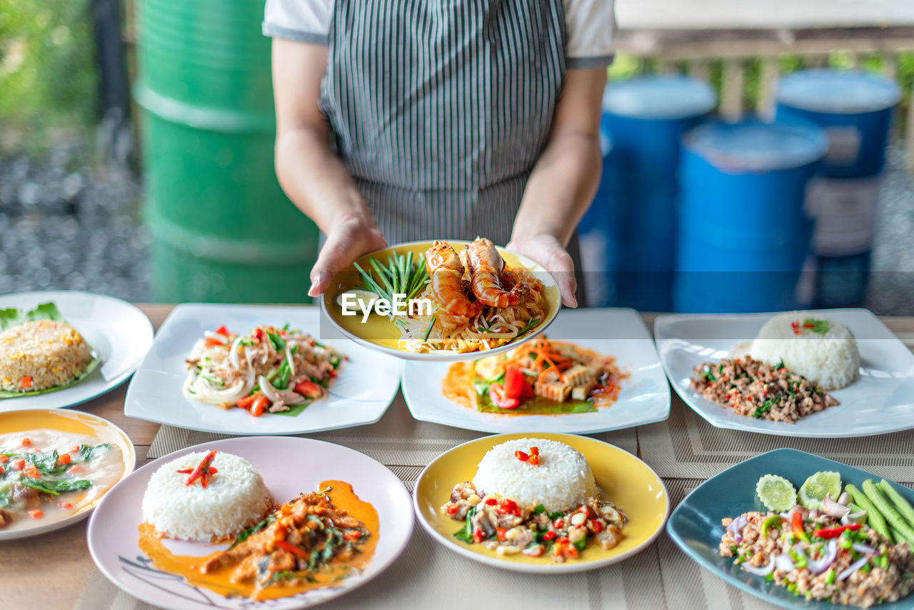
[[[403,395],[409,412],[422,422],[490,433],[598,433],[662,422],[669,417],[670,387],[651,334],[633,309],[563,309],[546,335],[614,357],[622,372],[629,374],[622,380],[619,400],[590,413],[476,412],[454,404],[441,394],[441,380],[450,364],[407,362]]]

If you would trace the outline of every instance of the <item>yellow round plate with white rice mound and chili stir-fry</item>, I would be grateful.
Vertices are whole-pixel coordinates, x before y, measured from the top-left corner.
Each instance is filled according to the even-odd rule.
[[[496,434],[421,472],[413,504],[436,542],[513,572],[579,573],[622,562],[659,535],[663,481],[640,459],[586,436]]]

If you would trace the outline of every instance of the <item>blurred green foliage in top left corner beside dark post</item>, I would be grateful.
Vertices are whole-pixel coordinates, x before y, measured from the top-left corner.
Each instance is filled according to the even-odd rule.
[[[90,0],[0,0],[0,130],[35,148],[58,128],[88,128],[97,81]]]

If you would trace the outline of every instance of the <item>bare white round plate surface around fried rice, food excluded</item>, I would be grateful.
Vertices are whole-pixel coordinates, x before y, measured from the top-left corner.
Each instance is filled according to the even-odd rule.
[[[0,400],[0,411],[59,409],[90,401],[121,385],[153,344],[153,325],[135,305],[103,294],[75,290],[4,294],[0,308],[27,311],[42,303],[57,305],[67,323],[85,337],[101,364],[64,390]]]

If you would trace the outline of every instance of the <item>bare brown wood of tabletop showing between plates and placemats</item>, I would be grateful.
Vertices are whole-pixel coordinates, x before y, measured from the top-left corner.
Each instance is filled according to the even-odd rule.
[[[140,305],[157,330],[172,310],[172,305]],[[653,328],[653,314],[643,315]],[[914,335],[914,317],[884,317],[883,322],[897,335]],[[138,466],[152,444],[159,424],[144,422],[123,414],[127,384],[78,407],[79,411],[99,415],[118,425],[136,445]],[[673,400],[680,401],[673,393]],[[0,569],[0,607],[70,610],[79,599],[92,571],[86,544],[86,521],[23,540],[3,542],[3,568]],[[36,595],[36,592],[40,592]]]

